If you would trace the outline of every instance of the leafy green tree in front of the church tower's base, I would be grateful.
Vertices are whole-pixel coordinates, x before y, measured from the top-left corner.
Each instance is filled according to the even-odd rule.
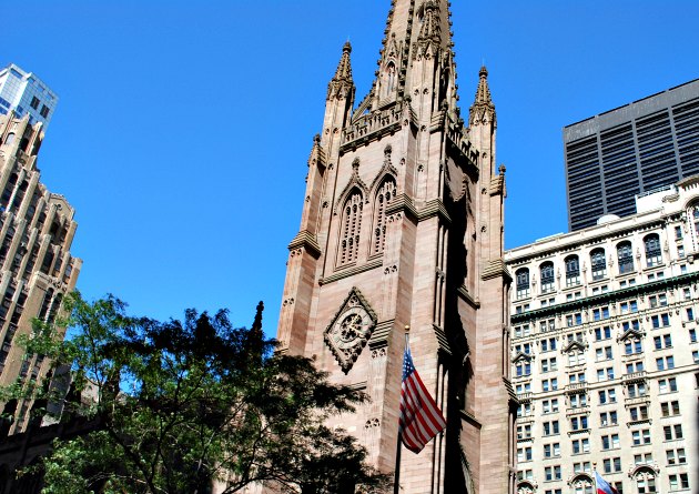
[[[226,493],[255,482],[304,494],[387,487],[353,436],[324,425],[366,396],[331,384],[308,359],[274,353],[262,303],[250,330],[232,327],[225,311],[158,322],[128,316],[111,296],[65,304],[58,324],[70,336],[37,322],[28,352],[70,365],[62,415],[99,427],[55,443],[43,492],[202,494],[214,480]]]

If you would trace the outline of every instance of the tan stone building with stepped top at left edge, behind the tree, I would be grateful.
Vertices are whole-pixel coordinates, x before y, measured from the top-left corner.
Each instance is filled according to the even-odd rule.
[[[33,317],[55,316],[82,265],[70,254],[73,209],[40,182],[42,139],[42,123],[32,125],[12,111],[0,115],[0,385],[45,374],[49,362],[26,357],[17,337],[31,331]],[[16,414],[10,432],[22,430],[31,403],[3,405]]]

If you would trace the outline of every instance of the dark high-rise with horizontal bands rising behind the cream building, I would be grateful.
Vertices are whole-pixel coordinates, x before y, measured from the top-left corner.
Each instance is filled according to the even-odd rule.
[[[699,173],[699,79],[564,129],[568,226],[636,212],[636,194]]]

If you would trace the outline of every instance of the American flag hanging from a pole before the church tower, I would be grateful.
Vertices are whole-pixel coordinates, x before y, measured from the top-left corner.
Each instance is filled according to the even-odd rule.
[[[401,385],[401,419],[398,433],[405,447],[419,453],[425,444],[446,427],[437,404],[419,379],[411,349],[405,345],[403,355],[403,384]]]

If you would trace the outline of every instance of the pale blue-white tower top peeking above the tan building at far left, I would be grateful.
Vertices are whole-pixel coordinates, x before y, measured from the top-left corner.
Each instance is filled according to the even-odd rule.
[[[18,117],[29,115],[29,123],[43,123],[45,131],[58,103],[58,97],[36,74],[13,63],[0,69],[0,114],[14,110]]]

